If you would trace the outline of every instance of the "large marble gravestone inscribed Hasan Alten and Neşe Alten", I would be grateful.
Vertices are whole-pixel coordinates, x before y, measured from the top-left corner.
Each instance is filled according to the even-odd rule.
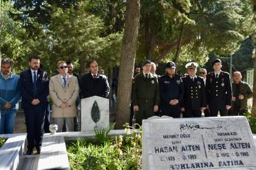
[[[143,170],[256,169],[245,116],[143,120]]]

